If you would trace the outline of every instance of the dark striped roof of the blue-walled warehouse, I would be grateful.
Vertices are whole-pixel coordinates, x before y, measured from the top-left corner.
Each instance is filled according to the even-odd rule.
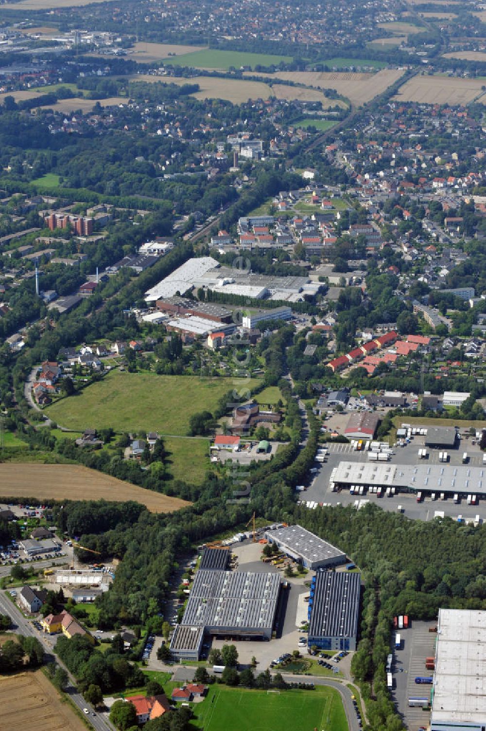
[[[356,637],[361,575],[317,572],[309,637]]]

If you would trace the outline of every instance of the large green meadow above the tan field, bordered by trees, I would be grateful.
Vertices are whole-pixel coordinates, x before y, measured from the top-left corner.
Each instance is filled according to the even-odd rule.
[[[111,371],[102,381],[49,406],[45,413],[76,431],[112,427],[115,431],[145,430],[186,436],[191,414],[212,411],[230,389],[251,389],[257,383],[252,379]]]

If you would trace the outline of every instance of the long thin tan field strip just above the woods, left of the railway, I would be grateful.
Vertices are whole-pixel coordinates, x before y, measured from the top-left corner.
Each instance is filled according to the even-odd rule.
[[[184,84],[197,83],[200,91],[195,96],[196,99],[227,99],[233,104],[247,102],[248,99],[268,99],[269,96],[276,96],[277,99],[301,99],[305,102],[322,102],[322,108],[334,107],[335,105],[346,106],[339,99],[327,99],[319,89],[309,89],[300,86],[286,86],[285,84],[275,84],[268,86],[261,81],[240,80],[240,79],[219,79],[211,76],[195,76],[187,79],[182,76],[150,76],[145,74],[137,74],[131,77],[131,80],[148,81],[149,83],[174,83],[179,86]]]

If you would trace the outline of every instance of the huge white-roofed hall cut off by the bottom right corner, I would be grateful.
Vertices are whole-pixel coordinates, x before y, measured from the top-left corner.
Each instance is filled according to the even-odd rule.
[[[430,731],[486,728],[486,612],[440,609]]]

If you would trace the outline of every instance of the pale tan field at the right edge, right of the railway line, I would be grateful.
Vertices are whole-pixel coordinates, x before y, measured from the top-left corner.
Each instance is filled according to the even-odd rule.
[[[447,76],[414,76],[398,89],[394,99],[422,104],[466,105],[482,94],[482,79],[457,79]]]

